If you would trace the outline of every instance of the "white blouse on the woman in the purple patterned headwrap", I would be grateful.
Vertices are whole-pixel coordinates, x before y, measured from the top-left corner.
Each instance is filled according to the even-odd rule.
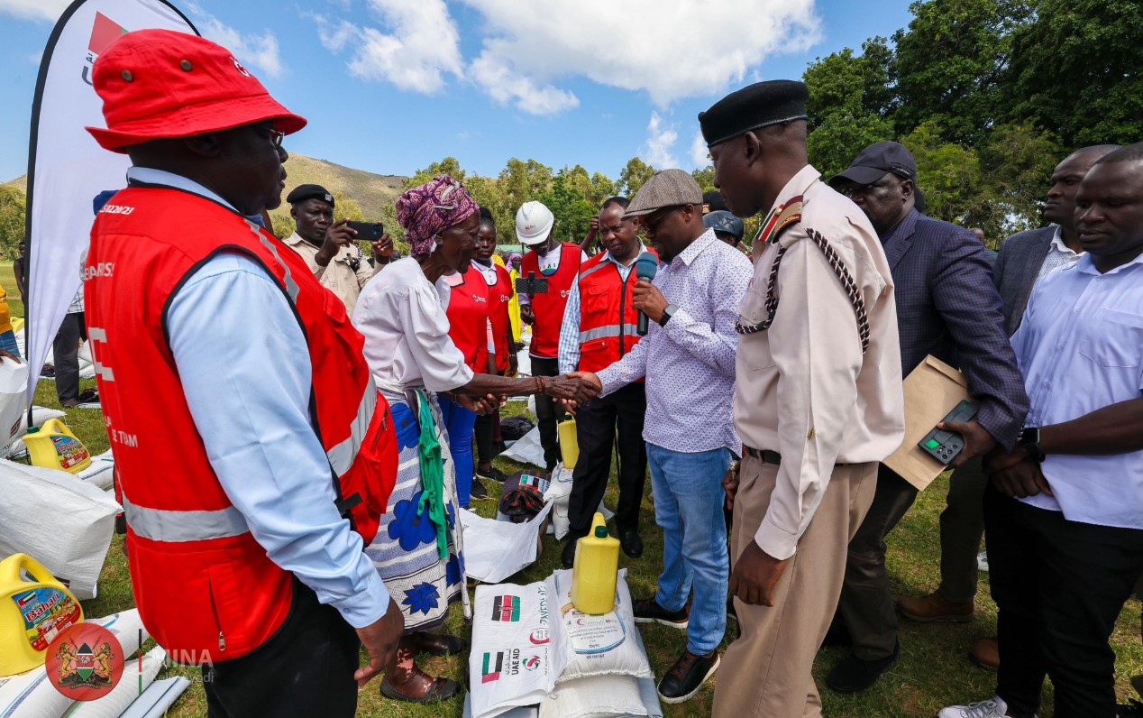
[[[365,358],[389,401],[406,391],[448,391],[472,381],[464,354],[448,336],[438,288],[413,257],[398,260],[361,290],[353,326],[365,335]]]

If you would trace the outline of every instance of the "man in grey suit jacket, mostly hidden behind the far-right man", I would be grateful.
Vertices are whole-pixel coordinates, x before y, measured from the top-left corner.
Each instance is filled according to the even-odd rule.
[[[997,256],[993,274],[1004,301],[1004,326],[1010,336],[1020,327],[1028,297],[1037,282],[1054,269],[1077,262],[1082,254],[1076,232],[1076,191],[1096,160],[1117,145],[1077,150],[1052,173],[1052,189],[1044,218],[1052,223],[1038,230],[1013,234]],[[984,535],[984,486],[981,461],[969,461],[952,474],[948,506],[941,512],[941,585],[928,596],[909,596],[898,601],[906,619],[921,622],[970,621],[977,587],[976,553]],[[982,668],[996,670],[999,653],[994,638],[978,641],[969,657]]]

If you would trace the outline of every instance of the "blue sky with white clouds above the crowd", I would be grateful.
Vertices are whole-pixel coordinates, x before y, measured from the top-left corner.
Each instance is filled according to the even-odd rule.
[[[692,169],[697,113],[911,19],[906,0],[174,0],[310,120],[287,147],[378,174],[511,157],[616,178]],[[67,0],[0,0],[0,181],[24,174],[40,56]]]

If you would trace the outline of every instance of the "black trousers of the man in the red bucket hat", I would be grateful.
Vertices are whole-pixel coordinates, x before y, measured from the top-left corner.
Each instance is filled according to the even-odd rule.
[[[209,718],[352,718],[360,665],[357,631],[294,580],[294,605],[265,644],[202,667]]]

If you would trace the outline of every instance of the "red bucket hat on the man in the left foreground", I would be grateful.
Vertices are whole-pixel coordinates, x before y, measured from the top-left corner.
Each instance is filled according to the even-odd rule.
[[[305,118],[280,105],[226,48],[170,30],[129,32],[95,61],[107,128],[88,127],[105,150],[192,137],[274,120],[287,135]]]

